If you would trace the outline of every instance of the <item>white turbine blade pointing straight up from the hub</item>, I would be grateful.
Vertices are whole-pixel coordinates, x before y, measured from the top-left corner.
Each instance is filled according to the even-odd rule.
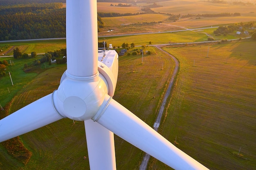
[[[67,72],[87,77],[98,72],[97,1],[66,1]]]

